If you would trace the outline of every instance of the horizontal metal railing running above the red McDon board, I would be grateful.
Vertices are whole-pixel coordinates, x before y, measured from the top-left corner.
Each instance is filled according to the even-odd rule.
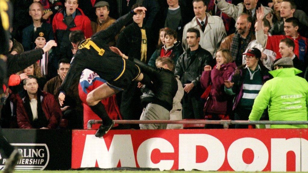
[[[115,124],[221,124],[225,129],[229,125],[308,125],[308,121],[243,121],[243,120],[113,120]],[[93,124],[101,124],[102,120],[89,120],[87,128],[92,129]]]

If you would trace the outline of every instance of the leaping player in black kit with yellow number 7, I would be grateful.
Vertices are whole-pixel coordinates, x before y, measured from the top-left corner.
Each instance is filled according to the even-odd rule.
[[[106,30],[99,31],[87,40],[84,40],[85,37],[81,31],[76,30],[70,34],[73,48],[78,50],[60,86],[59,102],[60,105],[63,104],[65,92],[68,91],[73,80],[80,77],[84,69],[92,70],[105,79],[106,83],[87,95],[87,103],[91,110],[103,120],[103,124],[95,133],[96,137],[103,136],[114,125],[114,122],[109,118],[104,105],[100,101],[119,91],[124,91],[132,81],[144,79],[138,66],[112,52],[107,43],[132,19],[136,12],[145,12],[145,10],[144,7],[135,8],[119,18]]]

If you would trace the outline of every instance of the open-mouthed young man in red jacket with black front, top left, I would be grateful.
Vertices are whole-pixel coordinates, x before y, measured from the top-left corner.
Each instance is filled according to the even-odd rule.
[[[60,10],[52,22],[52,29],[58,43],[58,57],[71,59],[73,57],[69,34],[81,30],[86,38],[92,36],[90,19],[78,8],[78,0],[66,0],[65,9]]]

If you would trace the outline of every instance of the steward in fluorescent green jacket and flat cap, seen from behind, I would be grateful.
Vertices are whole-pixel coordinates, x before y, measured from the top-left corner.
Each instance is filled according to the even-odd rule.
[[[254,101],[250,121],[259,120],[268,106],[270,121],[307,121],[308,82],[296,74],[291,58],[280,58]],[[271,128],[307,128],[307,125],[271,125]]]

